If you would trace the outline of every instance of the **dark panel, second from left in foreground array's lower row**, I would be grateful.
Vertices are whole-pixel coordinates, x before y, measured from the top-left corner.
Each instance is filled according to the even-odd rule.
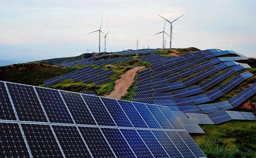
[[[49,125],[22,124],[33,157],[62,157],[61,149]]]

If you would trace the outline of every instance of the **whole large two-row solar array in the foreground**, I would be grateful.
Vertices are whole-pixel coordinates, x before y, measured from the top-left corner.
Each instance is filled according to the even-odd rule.
[[[0,157],[205,157],[165,106],[1,81],[0,93]]]

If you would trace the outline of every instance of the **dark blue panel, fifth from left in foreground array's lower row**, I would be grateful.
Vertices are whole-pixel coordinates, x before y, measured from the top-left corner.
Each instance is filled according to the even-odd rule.
[[[135,157],[119,129],[101,128],[101,130],[117,157]]]

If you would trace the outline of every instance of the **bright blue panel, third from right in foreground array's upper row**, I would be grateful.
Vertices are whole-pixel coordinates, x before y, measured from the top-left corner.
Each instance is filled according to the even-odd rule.
[[[139,111],[141,117],[144,119],[148,127],[150,128],[161,128],[155,117],[151,114],[145,104],[133,103],[136,109]]]

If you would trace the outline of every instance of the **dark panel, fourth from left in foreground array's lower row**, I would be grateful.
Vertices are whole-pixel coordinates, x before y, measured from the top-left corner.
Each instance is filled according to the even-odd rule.
[[[78,127],[94,157],[115,157],[101,130],[96,127]]]

